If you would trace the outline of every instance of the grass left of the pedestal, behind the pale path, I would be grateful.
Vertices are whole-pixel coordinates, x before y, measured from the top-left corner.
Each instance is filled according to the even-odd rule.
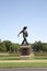
[[[20,60],[19,54],[0,54],[0,60]]]

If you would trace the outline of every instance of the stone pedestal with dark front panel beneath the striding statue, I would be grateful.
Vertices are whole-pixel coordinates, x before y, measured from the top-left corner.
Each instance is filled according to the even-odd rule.
[[[31,46],[21,46],[21,59],[31,58]]]

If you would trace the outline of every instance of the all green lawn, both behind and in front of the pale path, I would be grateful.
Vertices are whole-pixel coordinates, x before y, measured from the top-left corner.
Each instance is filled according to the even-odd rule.
[[[14,54],[0,55],[0,61],[4,60],[20,60],[21,57]],[[34,56],[32,60],[47,60],[47,56]],[[0,62],[0,68],[47,68],[47,62]]]

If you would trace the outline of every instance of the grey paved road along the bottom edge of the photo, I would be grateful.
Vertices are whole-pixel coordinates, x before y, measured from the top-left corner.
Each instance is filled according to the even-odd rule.
[[[47,68],[8,68],[0,71],[47,71]]]

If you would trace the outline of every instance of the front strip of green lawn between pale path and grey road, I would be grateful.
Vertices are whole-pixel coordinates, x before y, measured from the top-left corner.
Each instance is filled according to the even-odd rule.
[[[47,68],[47,62],[0,62],[0,68]]]

